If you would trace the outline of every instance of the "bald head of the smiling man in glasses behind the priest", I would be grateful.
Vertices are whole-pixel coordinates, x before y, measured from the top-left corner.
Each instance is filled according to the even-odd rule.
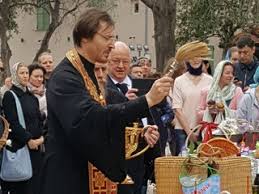
[[[108,60],[109,75],[118,82],[122,82],[129,73],[131,63],[130,49],[124,42],[117,41],[111,50]]]

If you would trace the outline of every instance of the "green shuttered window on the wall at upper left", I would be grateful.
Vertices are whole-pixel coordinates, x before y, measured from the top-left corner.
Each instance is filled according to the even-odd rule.
[[[37,30],[45,31],[48,29],[50,23],[50,16],[46,10],[46,0],[38,0],[38,5],[40,7],[37,8]]]

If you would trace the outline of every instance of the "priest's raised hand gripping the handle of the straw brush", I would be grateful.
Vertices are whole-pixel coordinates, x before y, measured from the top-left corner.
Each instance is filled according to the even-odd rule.
[[[172,87],[173,79],[170,77],[162,77],[154,82],[149,92],[146,94],[146,99],[149,108],[161,102]]]

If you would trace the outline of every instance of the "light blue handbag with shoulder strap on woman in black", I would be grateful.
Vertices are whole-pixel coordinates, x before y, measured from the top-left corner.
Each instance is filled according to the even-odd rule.
[[[19,123],[26,129],[21,103],[16,94],[11,90],[10,92],[15,99]],[[31,177],[32,165],[27,145],[16,152],[11,152],[4,148],[0,178],[4,181],[18,182],[29,180]]]

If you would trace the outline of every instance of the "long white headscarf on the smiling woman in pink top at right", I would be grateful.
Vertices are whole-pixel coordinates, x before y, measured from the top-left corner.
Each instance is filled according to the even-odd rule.
[[[207,102],[209,100],[215,101],[216,98],[219,97],[221,99],[222,103],[224,104],[226,118],[233,118],[234,112],[230,108],[228,108],[226,101],[229,101],[233,98],[233,96],[235,94],[236,86],[232,81],[230,84],[224,86],[223,89],[221,89],[219,87],[219,81],[220,81],[220,78],[224,71],[224,67],[225,67],[226,63],[231,63],[231,62],[228,60],[223,60],[223,61],[219,62],[218,65],[216,66],[216,69],[215,69],[215,72],[213,75],[212,84],[211,84],[210,90],[208,92]],[[222,115],[222,113],[219,113],[215,118],[215,123],[220,123],[222,121],[222,119],[223,119],[223,115]],[[206,110],[204,112],[203,121],[212,122],[212,117],[209,113],[208,107],[206,108]]]

